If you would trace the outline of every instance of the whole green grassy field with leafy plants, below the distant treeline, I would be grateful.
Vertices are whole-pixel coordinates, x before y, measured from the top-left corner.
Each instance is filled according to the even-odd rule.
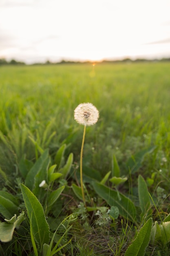
[[[1,255],[170,255],[169,70],[0,67]],[[99,110],[86,128],[86,204],[84,102]]]

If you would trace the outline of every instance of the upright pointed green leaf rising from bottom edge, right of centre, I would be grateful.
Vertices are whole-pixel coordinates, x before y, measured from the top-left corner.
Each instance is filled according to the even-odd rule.
[[[137,237],[125,252],[125,256],[144,256],[146,247],[150,242],[150,235],[152,230],[152,218],[144,224],[139,230]]]

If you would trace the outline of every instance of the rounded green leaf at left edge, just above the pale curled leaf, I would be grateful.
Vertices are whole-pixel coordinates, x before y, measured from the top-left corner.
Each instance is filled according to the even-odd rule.
[[[9,194],[6,191],[4,192],[6,195]],[[7,219],[11,219],[15,213],[18,213],[18,206],[9,199],[6,195],[0,195],[0,213]],[[10,195],[10,194],[9,194]]]

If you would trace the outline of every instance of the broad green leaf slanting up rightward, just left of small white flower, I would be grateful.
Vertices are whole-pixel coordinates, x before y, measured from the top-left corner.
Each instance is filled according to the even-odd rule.
[[[26,175],[25,186],[27,186],[30,190],[33,189],[34,186],[34,177],[41,171],[44,166],[44,162],[49,158],[49,150],[46,149],[44,153],[40,156],[40,158],[35,162],[29,173]],[[44,179],[45,180],[45,179]],[[42,180],[41,180],[42,181]]]

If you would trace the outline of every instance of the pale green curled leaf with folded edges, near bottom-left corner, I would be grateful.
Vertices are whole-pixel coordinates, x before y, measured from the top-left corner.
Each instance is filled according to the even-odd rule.
[[[18,217],[16,214],[10,219],[5,219],[6,222],[0,222],[0,240],[3,243],[7,243],[12,240],[13,231],[18,228],[24,220],[24,211],[20,213]]]

